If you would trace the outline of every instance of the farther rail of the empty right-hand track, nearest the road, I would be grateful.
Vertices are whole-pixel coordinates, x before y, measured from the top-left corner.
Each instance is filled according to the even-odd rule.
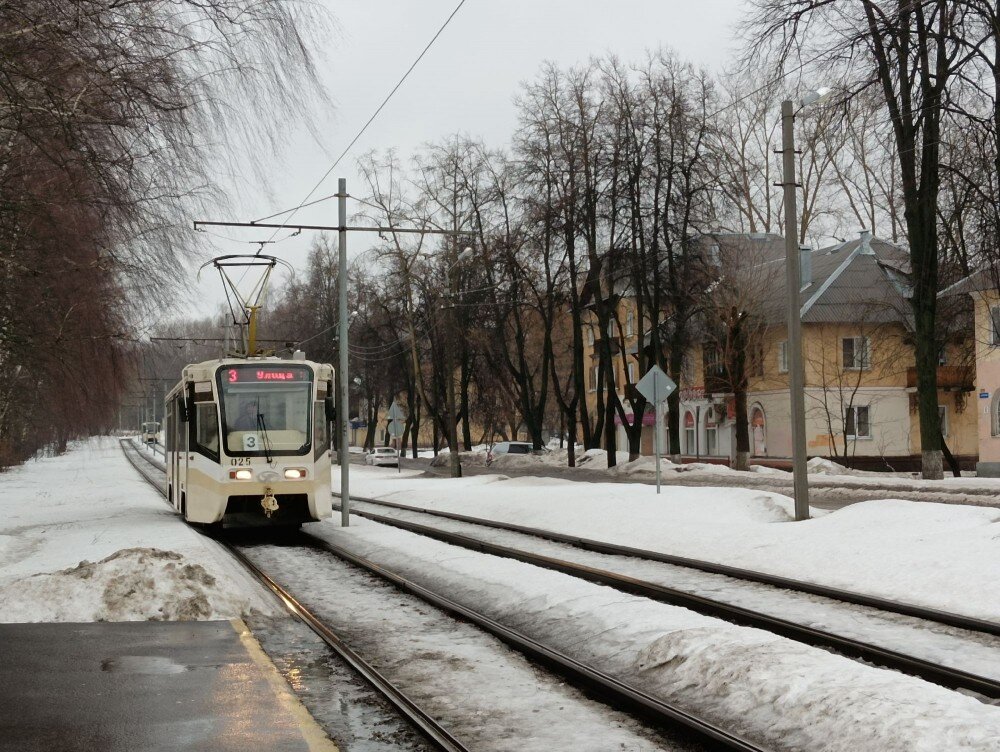
[[[339,494],[336,493],[333,495],[339,496]],[[469,515],[458,514],[456,512],[445,512],[437,509],[427,509],[423,507],[411,506],[409,504],[400,504],[394,501],[384,501],[382,499],[354,496],[353,494],[351,495],[351,499],[353,501],[363,502],[366,504],[385,506],[393,509],[402,509],[409,512],[421,512],[423,514],[428,514],[434,517],[441,517],[449,520],[455,520],[457,522],[468,522],[473,525],[480,525],[482,527],[490,527],[497,530],[508,530],[514,533],[522,533],[524,535],[530,535],[536,538],[543,538],[545,540],[554,541],[556,543],[565,543],[567,545],[573,546],[575,548],[581,548],[586,551],[594,551],[596,553],[602,553],[602,554],[611,554],[613,556],[629,556],[636,559],[658,561],[663,564],[673,564],[674,566],[686,567],[688,569],[697,569],[702,572],[708,572],[710,574],[721,574],[738,580],[745,580],[747,582],[757,582],[763,585],[771,585],[772,587],[781,588],[783,590],[793,590],[800,593],[808,593],[810,595],[819,595],[823,596],[824,598],[831,598],[833,600],[843,601],[844,603],[853,603],[854,605],[857,606],[868,606],[871,608],[876,608],[880,611],[900,614],[903,616],[912,616],[917,619],[922,619],[924,621],[937,622],[939,624],[944,624],[950,627],[957,627],[958,629],[964,629],[970,632],[982,632],[984,634],[1000,637],[1000,624],[998,624],[997,622],[988,621],[986,619],[978,619],[974,616],[954,614],[948,611],[941,611],[939,609],[930,608],[927,606],[916,606],[909,603],[900,603],[898,601],[889,600],[887,598],[880,598],[874,595],[865,595],[863,593],[855,593],[849,590],[840,590],[839,588],[829,587],[826,585],[818,585],[812,582],[793,580],[788,577],[782,577],[780,575],[767,574],[765,572],[756,572],[750,569],[742,569],[740,567],[732,567],[726,564],[717,564],[715,562],[703,561],[700,559],[690,559],[684,556],[675,556],[674,554],[662,553],[660,551],[650,551],[642,548],[633,548],[632,546],[624,546],[616,543],[605,543],[603,541],[593,540],[591,538],[583,538],[576,535],[567,535],[565,533],[557,533],[552,530],[543,530],[540,528],[533,528],[525,525],[517,525],[511,522],[486,520],[479,517],[471,517]]]

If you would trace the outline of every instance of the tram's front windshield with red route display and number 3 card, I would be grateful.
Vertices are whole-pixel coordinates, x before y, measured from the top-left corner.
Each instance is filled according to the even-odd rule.
[[[307,454],[311,446],[312,370],[247,364],[219,370],[226,454]]]

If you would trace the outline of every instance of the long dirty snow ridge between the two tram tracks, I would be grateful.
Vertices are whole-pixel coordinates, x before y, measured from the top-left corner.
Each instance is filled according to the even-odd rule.
[[[762,630],[367,520],[317,529],[775,750],[991,752],[1000,740],[1000,708]]]

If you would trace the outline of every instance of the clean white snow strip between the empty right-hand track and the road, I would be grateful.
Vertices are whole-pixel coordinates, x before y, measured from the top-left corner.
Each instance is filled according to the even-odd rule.
[[[781,494],[741,488],[357,472],[352,488],[405,504],[816,582],[1000,621],[1000,509],[868,501],[792,522]]]

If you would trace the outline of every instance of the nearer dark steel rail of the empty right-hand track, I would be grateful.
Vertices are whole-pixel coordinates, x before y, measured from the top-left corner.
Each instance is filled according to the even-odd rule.
[[[1000,680],[972,674],[961,669],[943,666],[923,658],[917,658],[906,653],[900,653],[889,648],[863,642],[850,637],[843,637],[833,632],[828,632],[815,627],[808,627],[787,619],[765,614],[760,611],[735,606],[713,598],[677,590],[675,588],[659,585],[647,580],[641,580],[628,575],[612,572],[606,569],[579,564],[576,562],[557,559],[544,554],[532,553],[522,549],[502,546],[496,543],[472,538],[461,533],[453,533],[438,528],[421,525],[409,520],[401,520],[397,517],[386,517],[384,515],[365,512],[357,508],[352,510],[354,514],[393,527],[408,530],[419,535],[423,535],[435,540],[443,541],[463,548],[502,556],[507,559],[532,564],[534,566],[550,569],[573,577],[578,577],[589,582],[596,582],[607,585],[623,592],[632,593],[644,598],[669,603],[675,606],[683,606],[692,611],[725,619],[726,621],[746,627],[764,629],[774,634],[782,635],[798,642],[803,642],[816,647],[829,648],[838,653],[869,661],[880,666],[896,669],[906,674],[918,676],[927,681],[939,684],[950,689],[965,689],[978,692],[991,699],[1000,698]]]

